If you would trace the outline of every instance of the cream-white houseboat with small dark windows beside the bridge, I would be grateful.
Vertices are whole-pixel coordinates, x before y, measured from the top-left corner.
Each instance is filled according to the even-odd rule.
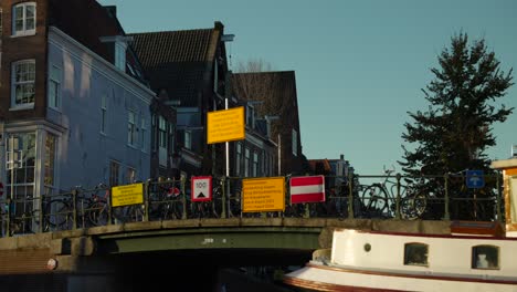
[[[504,176],[506,225],[453,221],[447,234],[335,229],[329,257],[284,282],[304,291],[517,291],[517,159]]]

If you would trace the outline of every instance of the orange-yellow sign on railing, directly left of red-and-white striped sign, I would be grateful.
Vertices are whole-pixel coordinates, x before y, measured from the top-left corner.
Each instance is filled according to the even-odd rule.
[[[242,180],[243,212],[284,211],[285,178],[250,178]]]

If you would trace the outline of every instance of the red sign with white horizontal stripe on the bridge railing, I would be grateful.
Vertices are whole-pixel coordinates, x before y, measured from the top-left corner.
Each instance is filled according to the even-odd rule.
[[[325,201],[325,177],[291,178],[291,204]]]

